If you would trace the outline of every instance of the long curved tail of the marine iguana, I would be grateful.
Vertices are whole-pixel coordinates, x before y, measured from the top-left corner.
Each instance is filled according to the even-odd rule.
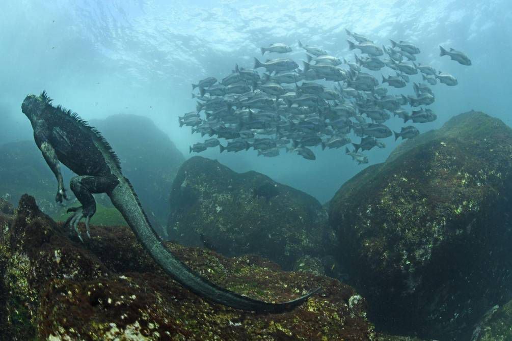
[[[114,206],[121,212],[121,215],[130,225],[137,239],[144,245],[144,248],[151,257],[153,257],[173,279],[206,300],[241,310],[259,313],[281,313],[293,310],[295,307],[301,305],[319,289],[303,297],[284,303],[267,303],[226,290],[206,278],[195,274],[192,269],[176,258],[176,256],[165,247],[148,222],[140,206],[137,194],[127,179],[122,179],[120,184],[109,196]]]

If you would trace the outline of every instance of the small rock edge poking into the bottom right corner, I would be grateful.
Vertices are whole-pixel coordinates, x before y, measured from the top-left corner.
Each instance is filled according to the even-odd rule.
[[[512,301],[489,309],[477,324],[471,341],[512,340]]]

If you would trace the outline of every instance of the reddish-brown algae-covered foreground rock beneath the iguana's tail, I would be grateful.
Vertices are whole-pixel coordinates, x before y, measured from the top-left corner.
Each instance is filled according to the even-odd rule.
[[[350,286],[307,272],[284,272],[258,256],[229,259],[167,243],[202,276],[249,297],[278,302],[316,286],[322,292],[283,314],[208,303],[163,274],[128,228],[91,226],[92,239],[82,244],[28,195],[4,227],[0,335],[6,340],[375,338],[366,301]],[[79,228],[83,233],[83,224]]]

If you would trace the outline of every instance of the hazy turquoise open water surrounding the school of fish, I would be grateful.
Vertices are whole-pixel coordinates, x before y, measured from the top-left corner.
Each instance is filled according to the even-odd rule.
[[[418,61],[457,77],[457,86],[433,87],[431,108],[438,119],[417,125],[421,132],[471,109],[510,125],[511,18],[512,4],[504,0],[6,2],[0,11],[0,143],[31,139],[20,103],[28,93],[46,89],[55,103],[87,120],[115,113],[151,118],[188,154],[189,145],[202,141],[177,123],[195,108],[191,83],[221,79],[236,63],[252,67],[260,47],[273,42],[292,47],[289,55],[297,61],[305,59],[299,39],[353,60],[345,28],[379,46],[389,39],[411,41],[421,49]],[[465,52],[472,65],[439,57],[439,44]],[[413,94],[409,85],[407,92]],[[399,129],[400,120],[389,126]],[[396,146],[393,140],[385,140],[386,149],[367,153],[370,165],[386,159]],[[351,162],[343,149],[313,149],[315,162],[290,154],[257,157],[252,150],[211,149],[201,155],[237,171],[263,172],[321,201],[365,167]]]

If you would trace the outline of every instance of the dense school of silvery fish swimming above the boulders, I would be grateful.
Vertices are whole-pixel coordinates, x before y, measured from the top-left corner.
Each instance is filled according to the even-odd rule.
[[[265,62],[254,58],[253,69],[236,65],[223,79],[207,77],[192,84],[197,108],[179,117],[179,124],[209,138],[190,146],[189,151],[217,147],[222,153],[253,148],[258,155],[274,157],[285,150],[315,160],[311,147],[321,146],[324,150],[345,146],[345,153],[355,162],[366,164],[368,157],[362,152],[385,148],[381,139],[393,133],[395,140],[416,137],[419,131],[412,125],[393,132],[385,123],[392,116],[398,116],[403,123],[436,120],[436,114],[428,108],[435,101],[431,86],[438,82],[454,86],[457,79],[417,63],[420,49],[413,43],[391,40],[391,46],[379,47],[363,35],[346,32],[352,39],[347,40],[349,50],[360,51],[354,53],[355,62],[298,41],[298,47],[305,52],[302,69],[290,58]],[[471,65],[460,51],[443,47],[440,50],[440,56]],[[262,55],[291,51],[283,43],[261,48]],[[381,72],[385,68],[393,70],[394,75],[381,76],[380,82],[365,72]],[[388,95],[390,87],[404,88],[414,75],[421,75],[422,80],[412,82],[414,95]],[[196,88],[199,94],[194,93]],[[409,112],[404,106],[413,109]],[[349,137],[353,135],[359,141]],[[221,143],[219,139],[225,141]]]

